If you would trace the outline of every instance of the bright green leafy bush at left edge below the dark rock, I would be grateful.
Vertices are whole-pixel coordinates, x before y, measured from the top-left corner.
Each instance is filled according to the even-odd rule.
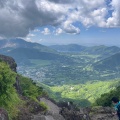
[[[5,108],[9,117],[17,115],[16,106],[19,104],[20,99],[14,88],[16,73],[14,73],[8,65],[0,62],[0,107]]]

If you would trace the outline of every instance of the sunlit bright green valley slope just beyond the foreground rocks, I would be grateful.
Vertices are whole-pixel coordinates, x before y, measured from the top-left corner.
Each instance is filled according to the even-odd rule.
[[[39,85],[39,83],[38,83]],[[49,96],[56,101],[73,101],[79,107],[91,106],[102,94],[109,93],[120,85],[120,80],[90,81],[85,84],[69,84],[62,86],[40,86],[47,90]]]

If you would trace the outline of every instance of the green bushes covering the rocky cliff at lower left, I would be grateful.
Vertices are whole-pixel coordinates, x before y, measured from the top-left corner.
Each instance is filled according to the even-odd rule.
[[[19,90],[15,88],[16,80],[19,80],[21,94],[18,94]],[[18,75],[8,64],[0,61],[0,107],[7,110],[10,120],[16,120],[21,112],[20,109],[26,109],[27,104],[38,104],[41,110],[46,110],[47,106],[37,99],[46,94],[31,79]],[[33,110],[33,107],[29,108],[30,112]]]

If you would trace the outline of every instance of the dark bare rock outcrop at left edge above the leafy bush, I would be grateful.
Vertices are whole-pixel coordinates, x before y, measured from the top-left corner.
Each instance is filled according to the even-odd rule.
[[[15,60],[12,57],[8,57],[8,56],[5,56],[5,55],[0,55],[0,60],[6,62],[10,66],[10,68],[14,72],[16,72],[17,64],[15,63]]]

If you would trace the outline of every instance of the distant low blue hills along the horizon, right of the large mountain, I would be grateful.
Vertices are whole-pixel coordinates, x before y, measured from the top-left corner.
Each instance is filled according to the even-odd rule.
[[[116,46],[92,46],[92,47],[85,47],[77,44],[70,44],[70,45],[52,45],[49,46],[52,49],[55,49],[59,52],[76,52],[84,55],[99,55],[100,58],[109,57],[115,53],[120,52],[120,48]]]

